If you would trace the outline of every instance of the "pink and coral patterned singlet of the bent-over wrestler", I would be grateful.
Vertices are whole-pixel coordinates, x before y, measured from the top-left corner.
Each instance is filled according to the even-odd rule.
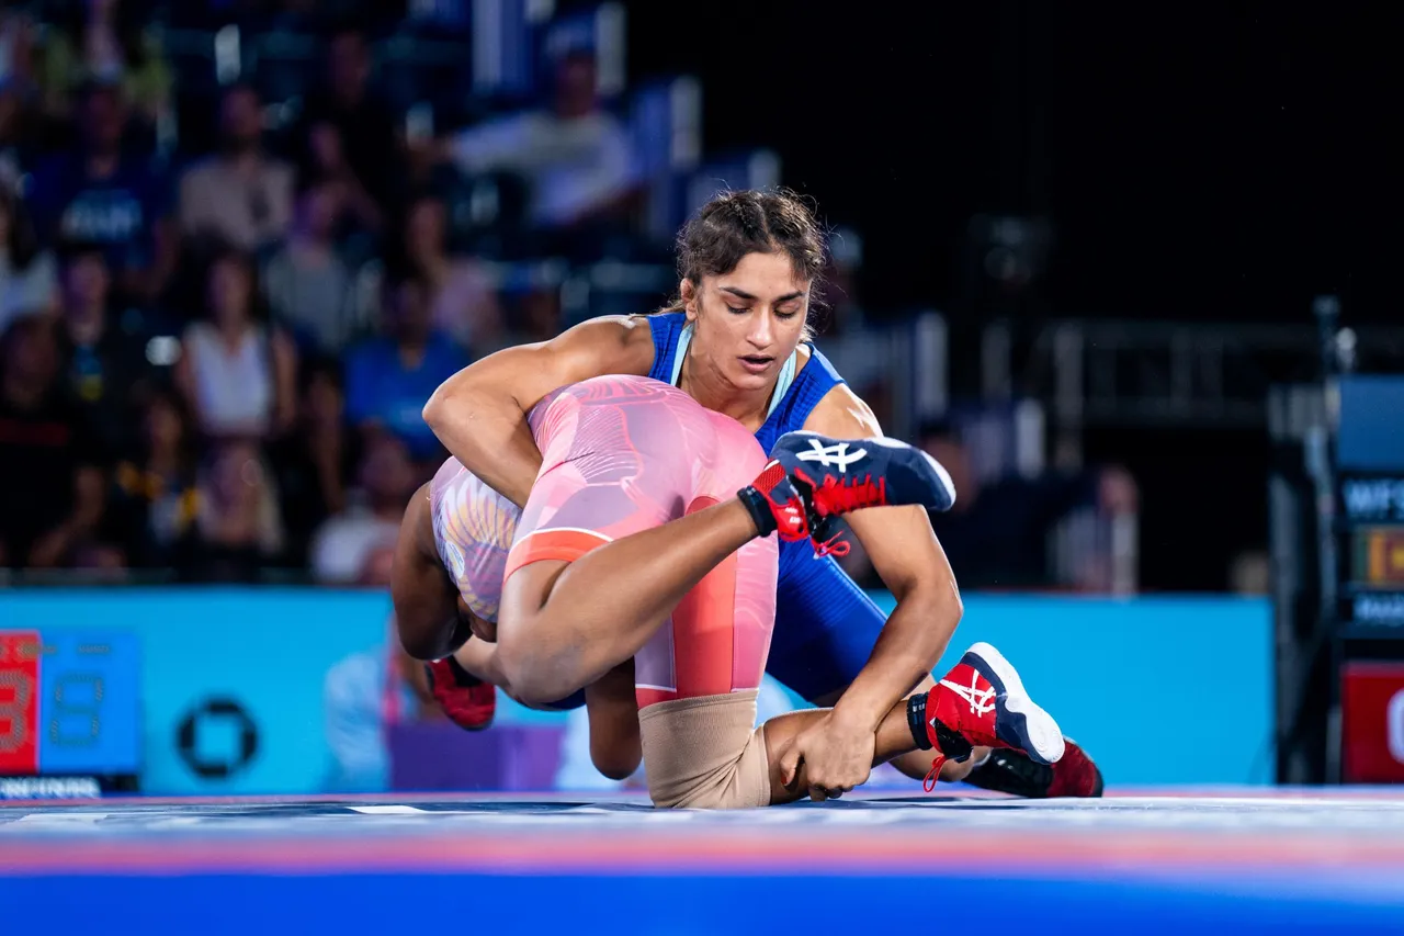
[[[439,555],[468,606],[491,621],[501,582],[515,569],[570,562],[727,500],[765,465],[740,423],[646,377],[562,388],[536,405],[529,422],[542,467],[519,520],[511,502],[458,461],[445,462],[431,485]],[[682,599],[635,656],[640,708],[760,687],[776,568],[775,537],[753,540]]]

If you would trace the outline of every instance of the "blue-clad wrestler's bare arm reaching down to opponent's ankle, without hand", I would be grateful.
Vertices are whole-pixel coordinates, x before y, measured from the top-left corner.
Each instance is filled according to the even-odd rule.
[[[804,429],[831,438],[882,436],[872,409],[844,384]],[[834,704],[835,720],[872,729],[941,659],[960,621],[960,590],[922,507],[870,507],[844,519],[897,599],[868,665]]]

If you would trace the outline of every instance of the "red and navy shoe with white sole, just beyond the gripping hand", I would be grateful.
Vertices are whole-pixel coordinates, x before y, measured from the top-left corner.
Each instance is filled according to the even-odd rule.
[[[1057,763],[1064,752],[1057,722],[1029,698],[1009,661],[986,642],[972,645],[925,696],[913,696],[907,720],[917,742],[936,752],[928,793],[941,765],[965,760],[973,748],[1014,748],[1040,765]],[[917,735],[917,725],[925,738]]]

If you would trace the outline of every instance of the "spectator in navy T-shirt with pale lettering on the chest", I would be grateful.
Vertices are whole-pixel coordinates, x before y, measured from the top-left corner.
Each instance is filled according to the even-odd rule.
[[[38,167],[29,205],[41,240],[102,245],[118,290],[149,302],[166,288],[178,245],[164,176],[122,153],[124,110],[114,86],[84,89],[83,142]]]

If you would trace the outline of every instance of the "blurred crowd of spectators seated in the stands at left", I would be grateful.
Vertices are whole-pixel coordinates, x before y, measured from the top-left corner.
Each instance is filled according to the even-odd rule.
[[[445,455],[431,391],[562,327],[559,290],[504,288],[483,245],[588,261],[632,233],[591,49],[556,53],[539,104],[435,138],[372,80],[378,20],[192,0],[313,31],[324,62],[291,119],[233,82],[171,145],[152,11],[35,6],[0,14],[0,566],[371,575]],[[477,178],[521,195],[512,223],[465,219]]]

